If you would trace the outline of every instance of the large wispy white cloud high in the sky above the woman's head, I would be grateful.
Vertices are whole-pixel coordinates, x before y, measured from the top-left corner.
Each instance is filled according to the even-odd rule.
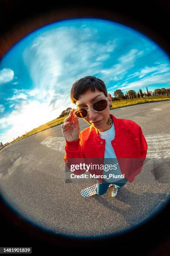
[[[55,93],[69,91],[77,79],[96,74],[102,61],[116,47],[116,39],[106,43],[94,41],[98,31],[83,25],[59,27],[46,31],[25,49],[23,59],[35,90],[40,90],[37,100],[43,100],[43,91],[54,89]],[[97,61],[101,59],[102,61]]]

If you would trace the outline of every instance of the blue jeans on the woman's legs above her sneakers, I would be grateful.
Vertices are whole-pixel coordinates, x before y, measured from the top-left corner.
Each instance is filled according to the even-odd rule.
[[[100,184],[100,182],[97,180],[97,195],[103,195],[107,192],[107,189],[109,187],[110,184],[114,184],[115,188],[120,188],[122,186],[124,186],[126,184],[126,182],[128,182],[128,179],[121,179],[119,182],[112,182],[112,183],[102,183]]]

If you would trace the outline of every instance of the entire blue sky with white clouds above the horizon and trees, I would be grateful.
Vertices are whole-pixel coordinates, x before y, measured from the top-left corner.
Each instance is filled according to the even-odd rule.
[[[170,87],[170,61],[142,33],[79,18],[52,23],[20,40],[0,60],[0,141],[13,141],[68,107],[72,84],[102,79],[108,93]]]

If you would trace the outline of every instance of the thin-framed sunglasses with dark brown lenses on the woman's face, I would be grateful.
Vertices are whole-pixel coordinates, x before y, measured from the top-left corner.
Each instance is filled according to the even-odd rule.
[[[95,100],[92,102],[90,105],[91,108],[88,107],[82,107],[82,108],[77,108],[73,112],[74,115],[76,115],[78,118],[86,118],[88,115],[88,111],[92,109],[95,112],[102,112],[107,108],[109,105],[109,97],[101,98],[100,100]]]

